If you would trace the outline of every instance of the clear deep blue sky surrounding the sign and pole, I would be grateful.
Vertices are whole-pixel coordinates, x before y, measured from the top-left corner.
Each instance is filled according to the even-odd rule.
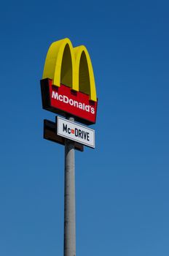
[[[76,255],[169,255],[168,1],[3,1],[0,255],[63,255],[63,146],[43,140],[51,42],[84,44],[99,99],[76,152]]]

